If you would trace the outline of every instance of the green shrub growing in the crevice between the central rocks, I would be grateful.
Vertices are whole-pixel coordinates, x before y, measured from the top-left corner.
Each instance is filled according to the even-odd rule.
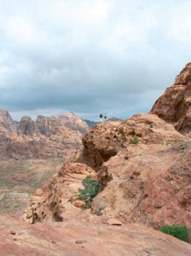
[[[98,194],[99,182],[95,181],[91,176],[87,176],[83,179],[82,184],[85,189],[79,189],[78,199],[85,201],[86,208],[89,208],[93,197]]]

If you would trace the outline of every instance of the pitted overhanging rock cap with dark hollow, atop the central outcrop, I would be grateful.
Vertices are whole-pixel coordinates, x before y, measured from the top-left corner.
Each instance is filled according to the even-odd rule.
[[[126,121],[104,122],[93,126],[82,138],[83,150],[72,161],[84,162],[99,170],[101,165],[114,157],[122,148],[137,138],[139,143],[161,144],[182,141],[184,136],[171,124],[156,115],[139,114]]]

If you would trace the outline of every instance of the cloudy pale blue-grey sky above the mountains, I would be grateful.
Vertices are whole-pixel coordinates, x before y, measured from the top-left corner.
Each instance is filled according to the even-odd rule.
[[[0,0],[0,108],[147,113],[191,61],[190,0]]]

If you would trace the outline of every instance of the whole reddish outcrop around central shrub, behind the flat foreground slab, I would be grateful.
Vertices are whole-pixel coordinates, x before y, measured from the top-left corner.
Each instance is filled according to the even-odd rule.
[[[42,187],[41,195],[31,198],[28,222],[46,222],[55,212],[58,219],[67,219],[69,211],[78,214],[73,202],[85,177],[83,167],[90,173],[95,170],[101,185],[92,214],[156,228],[164,224],[191,228],[191,142],[173,125],[140,114],[119,124],[97,124],[82,141],[83,150],[72,160],[83,165],[67,163]],[[71,193],[70,187],[76,190]]]

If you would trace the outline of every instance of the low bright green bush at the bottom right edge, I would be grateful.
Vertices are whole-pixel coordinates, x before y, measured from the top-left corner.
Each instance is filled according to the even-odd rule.
[[[163,227],[160,227],[159,230],[165,234],[175,236],[176,238],[179,238],[182,241],[187,241],[187,239],[189,237],[189,230],[188,230],[187,226],[164,225]]]

